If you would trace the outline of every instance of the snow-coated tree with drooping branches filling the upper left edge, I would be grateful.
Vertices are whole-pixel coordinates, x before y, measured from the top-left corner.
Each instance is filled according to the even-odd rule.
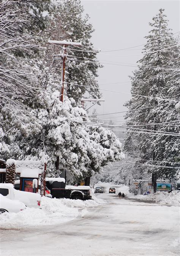
[[[9,131],[22,133],[30,124],[29,112],[40,105],[37,77],[25,60],[35,58],[39,52],[37,35],[46,25],[43,11],[50,0],[9,0],[0,2],[0,117],[2,129],[0,152],[9,153]],[[33,120],[31,120],[33,121]]]

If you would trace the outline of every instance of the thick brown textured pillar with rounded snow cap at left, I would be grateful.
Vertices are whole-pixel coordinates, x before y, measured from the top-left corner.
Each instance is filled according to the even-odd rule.
[[[15,176],[16,176],[16,160],[8,159],[6,161],[5,183],[12,183],[14,185]]]

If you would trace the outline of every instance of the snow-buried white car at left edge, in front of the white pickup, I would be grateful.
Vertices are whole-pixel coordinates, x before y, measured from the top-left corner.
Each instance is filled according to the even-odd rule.
[[[11,200],[7,197],[0,194],[0,214],[5,212],[14,212],[17,213],[19,211],[24,210],[25,204],[19,202],[18,200]]]

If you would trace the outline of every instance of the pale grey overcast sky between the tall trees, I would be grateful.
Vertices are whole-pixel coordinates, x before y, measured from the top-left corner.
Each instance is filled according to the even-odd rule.
[[[148,23],[152,21],[152,17],[158,13],[160,8],[165,9],[172,33],[179,31],[178,1],[82,0],[82,5],[85,13],[89,14],[90,22],[95,29],[92,42],[95,48],[101,49],[101,53],[98,54],[99,61],[101,63],[111,62],[111,65],[104,64],[104,68],[99,69],[98,72],[99,87],[103,89],[130,93],[131,83],[129,83],[128,76],[132,75],[132,71],[136,68],[129,67],[129,65],[136,65],[137,60],[141,59],[142,46],[137,47],[136,50],[103,51],[146,43],[144,37],[150,31]],[[130,95],[103,90],[101,92],[103,92],[105,102],[104,106],[102,104],[97,108],[99,114],[127,110],[123,104],[130,99]],[[101,116],[101,118],[113,117],[112,119],[115,119],[117,116],[120,116],[117,119],[123,119],[123,113]]]

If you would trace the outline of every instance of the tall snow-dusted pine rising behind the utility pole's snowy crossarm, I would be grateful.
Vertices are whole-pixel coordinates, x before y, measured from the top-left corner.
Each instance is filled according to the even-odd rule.
[[[96,51],[90,41],[94,30],[92,24],[88,22],[89,16],[86,14],[84,17],[83,11],[81,0],[61,1],[53,14],[48,34],[51,40],[82,43],[82,47],[71,46],[67,50],[65,90],[68,97],[73,97],[76,103],[85,92],[88,92],[92,98],[101,98],[96,81],[97,69],[101,65],[96,59]],[[60,54],[62,48],[50,45],[48,50],[51,54],[52,52]],[[60,72],[60,60],[54,60],[53,67],[56,72]]]

